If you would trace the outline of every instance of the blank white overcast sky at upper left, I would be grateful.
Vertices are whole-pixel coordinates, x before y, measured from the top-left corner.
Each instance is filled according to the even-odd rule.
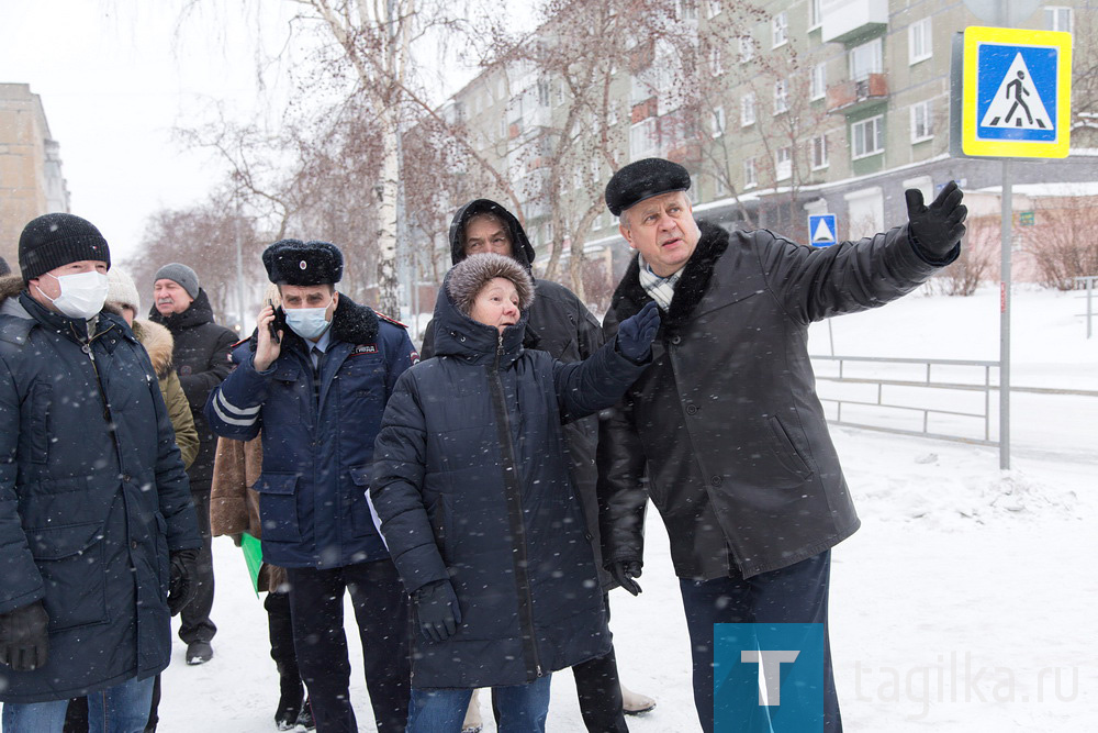
[[[276,79],[260,99],[255,69],[259,38],[284,40],[289,3],[208,0],[180,30],[186,2],[0,0],[0,82],[42,98],[72,213],[100,227],[117,259],[135,252],[149,214],[199,202],[223,178],[172,129],[209,121],[214,103],[251,120],[285,91]],[[248,5],[262,18],[245,16]]]

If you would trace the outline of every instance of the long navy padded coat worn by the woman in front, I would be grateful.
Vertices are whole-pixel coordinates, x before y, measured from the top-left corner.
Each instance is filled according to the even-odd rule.
[[[449,276],[447,276],[449,281]],[[410,592],[449,578],[461,609],[441,643],[415,635],[419,688],[522,685],[609,647],[562,420],[614,404],[645,369],[608,344],[564,364],[502,338],[439,290],[435,353],[396,384],[371,496]]]

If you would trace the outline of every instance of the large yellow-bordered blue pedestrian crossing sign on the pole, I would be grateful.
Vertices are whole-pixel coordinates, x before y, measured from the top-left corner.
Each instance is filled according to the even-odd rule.
[[[962,84],[965,155],[1067,156],[1071,33],[966,27]]]

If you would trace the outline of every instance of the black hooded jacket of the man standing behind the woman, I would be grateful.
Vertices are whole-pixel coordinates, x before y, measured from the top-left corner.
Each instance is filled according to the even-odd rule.
[[[534,247],[526,236],[526,231],[514,214],[489,199],[470,201],[453,214],[453,222],[450,224],[452,264],[457,265],[466,258],[462,240],[466,223],[471,216],[485,212],[494,213],[506,222],[511,230],[513,256],[529,270],[534,259]],[[534,288],[536,297],[534,304],[530,306],[529,321],[526,324],[526,337],[523,341],[525,348],[549,352],[550,356],[567,364],[582,362],[598,351],[603,345],[602,327],[574,292],[551,280],[535,279]],[[419,353],[425,359],[435,355],[434,323],[432,321],[427,324],[423,335],[423,347]],[[593,537],[592,548],[595,552],[598,579],[603,587],[609,588],[614,585],[614,579],[602,564],[602,543],[598,541],[598,497],[595,492],[598,480],[598,469],[595,466],[598,419],[589,415],[568,423],[564,425],[564,440],[568,441],[573,478],[580,491],[580,499],[583,501],[587,532]]]

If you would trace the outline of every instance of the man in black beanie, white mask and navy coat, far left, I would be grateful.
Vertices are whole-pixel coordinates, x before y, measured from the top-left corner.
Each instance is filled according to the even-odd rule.
[[[92,730],[142,730],[200,544],[187,474],[148,354],[102,310],[99,230],[40,216],[19,265],[0,278],[3,731],[59,732],[86,693]]]

